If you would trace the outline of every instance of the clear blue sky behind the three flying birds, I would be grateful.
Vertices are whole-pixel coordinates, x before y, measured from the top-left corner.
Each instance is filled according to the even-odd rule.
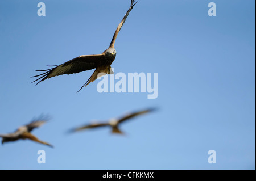
[[[38,16],[39,2],[46,16]],[[209,2],[216,16],[209,16]],[[147,92],[100,93],[93,70],[34,86],[35,70],[108,48],[129,0],[0,1],[0,133],[42,113],[29,140],[0,145],[0,169],[255,169],[255,1],[139,0],[117,36],[115,73],[158,73]],[[92,120],[159,110],[120,127]],[[38,150],[46,151],[39,164]],[[208,163],[208,151],[216,163]]]

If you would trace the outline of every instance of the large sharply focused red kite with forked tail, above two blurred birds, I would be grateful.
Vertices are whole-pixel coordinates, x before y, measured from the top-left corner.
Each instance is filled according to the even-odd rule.
[[[117,39],[118,32],[121,30],[123,23],[125,23],[125,20],[129,15],[129,12],[133,9],[136,3],[137,2],[135,2],[135,0],[131,0],[131,5],[129,7],[129,10],[126,12],[121,23],[119,23],[117,30],[115,30],[115,33],[109,45],[109,48],[106,49],[103,53],[92,54],[92,55],[81,55],[61,65],[47,65],[52,68],[46,69],[46,70],[36,70],[36,71],[44,71],[44,73],[32,76],[32,77],[40,76],[38,79],[36,79],[33,82],[39,81],[38,83],[40,83],[47,78],[55,77],[58,75],[75,74],[75,73],[80,73],[81,71],[96,69],[94,73],[90,76],[88,81],[86,81],[85,84],[82,86],[82,87],[86,87],[90,82],[95,81],[98,77],[101,77],[102,75],[113,74],[114,72],[112,71],[110,65],[115,60],[115,55],[117,54],[114,48],[115,40]],[[36,85],[38,85],[38,83],[36,83]]]

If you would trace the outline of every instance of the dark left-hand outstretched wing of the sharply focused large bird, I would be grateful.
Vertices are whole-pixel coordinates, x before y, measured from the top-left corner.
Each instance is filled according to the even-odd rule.
[[[75,74],[81,71],[90,70],[97,68],[98,66],[105,63],[105,53],[102,54],[93,54],[93,55],[82,55],[72,60],[69,60],[61,65],[53,65],[54,68],[46,69],[46,70],[36,70],[36,71],[45,71],[42,74],[35,75],[32,77],[39,77],[33,82],[36,82],[40,79],[39,82],[44,81],[47,78],[55,77],[63,74]],[[48,65],[49,66],[49,65]],[[33,83],[31,82],[31,83]],[[38,83],[39,83],[38,82]],[[36,83],[36,85],[38,85]]]

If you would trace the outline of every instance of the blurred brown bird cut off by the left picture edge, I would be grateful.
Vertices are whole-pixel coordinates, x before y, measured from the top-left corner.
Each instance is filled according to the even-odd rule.
[[[14,133],[0,134],[0,137],[2,137],[2,144],[4,142],[16,141],[20,139],[22,140],[28,139],[28,140],[39,142],[40,144],[53,147],[52,145],[48,144],[48,142],[41,141],[37,137],[35,137],[33,134],[30,133],[34,128],[38,128],[42,126],[44,123],[46,123],[46,121],[47,120],[45,119],[33,120],[31,121],[30,124],[19,127]]]

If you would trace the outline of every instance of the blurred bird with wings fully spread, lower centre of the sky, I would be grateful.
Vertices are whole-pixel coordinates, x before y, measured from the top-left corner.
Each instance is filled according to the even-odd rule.
[[[77,132],[77,131],[81,131],[81,130],[89,129],[89,128],[111,127],[112,133],[123,134],[123,132],[120,131],[120,129],[118,128],[120,123],[123,123],[123,121],[129,120],[136,116],[143,115],[148,112],[152,112],[154,110],[155,110],[155,108],[149,108],[146,110],[129,113],[119,119],[110,119],[108,122],[105,122],[105,123],[94,123],[94,124],[84,125],[82,127],[71,129],[69,132]]]

